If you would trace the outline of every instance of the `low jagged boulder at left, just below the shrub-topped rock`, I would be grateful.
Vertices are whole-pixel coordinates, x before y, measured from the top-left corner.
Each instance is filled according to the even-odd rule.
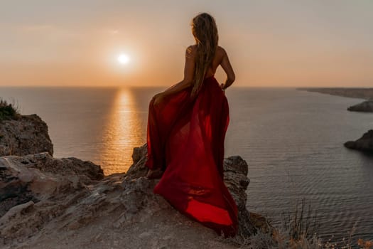
[[[55,159],[48,152],[0,157],[0,216],[20,203],[69,195],[103,178],[99,166],[73,157]]]

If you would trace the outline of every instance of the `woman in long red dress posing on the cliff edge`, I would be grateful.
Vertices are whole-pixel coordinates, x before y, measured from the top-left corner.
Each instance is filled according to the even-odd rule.
[[[217,26],[209,14],[192,21],[195,45],[185,52],[184,79],[153,97],[148,115],[148,178],[161,178],[153,192],[186,216],[234,236],[237,206],[223,181],[229,109],[224,90],[234,82]],[[227,74],[219,85],[215,71]]]

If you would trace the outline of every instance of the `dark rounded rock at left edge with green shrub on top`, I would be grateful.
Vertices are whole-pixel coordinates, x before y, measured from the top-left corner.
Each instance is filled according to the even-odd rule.
[[[48,126],[38,115],[19,115],[16,120],[0,120],[0,156],[53,155]]]

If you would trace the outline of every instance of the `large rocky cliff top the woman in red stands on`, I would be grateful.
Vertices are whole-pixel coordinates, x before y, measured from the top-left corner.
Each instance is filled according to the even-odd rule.
[[[153,194],[146,146],[135,148],[126,174],[48,153],[0,157],[1,248],[237,248]],[[239,235],[269,231],[246,208],[247,164],[225,159],[225,184],[239,208]]]

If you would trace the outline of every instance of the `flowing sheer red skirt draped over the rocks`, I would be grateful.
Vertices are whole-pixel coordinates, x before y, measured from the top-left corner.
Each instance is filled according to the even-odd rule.
[[[214,76],[193,99],[191,90],[149,104],[146,166],[165,170],[153,192],[219,235],[234,236],[237,205],[223,181],[227,97]]]

